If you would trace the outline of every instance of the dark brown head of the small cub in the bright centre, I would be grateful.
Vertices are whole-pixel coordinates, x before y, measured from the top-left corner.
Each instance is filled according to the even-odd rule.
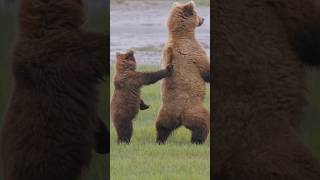
[[[134,71],[136,69],[136,60],[132,50],[127,53],[117,53],[116,70],[117,72]]]

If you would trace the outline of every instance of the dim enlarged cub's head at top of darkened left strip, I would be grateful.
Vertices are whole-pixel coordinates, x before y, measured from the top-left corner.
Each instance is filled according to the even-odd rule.
[[[41,36],[49,30],[77,29],[85,21],[84,14],[82,0],[22,0],[20,31]]]

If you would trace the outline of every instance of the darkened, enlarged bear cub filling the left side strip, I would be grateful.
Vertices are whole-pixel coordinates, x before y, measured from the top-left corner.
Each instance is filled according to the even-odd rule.
[[[81,0],[22,0],[14,89],[1,131],[5,180],[76,180],[92,150],[108,152],[97,115],[108,37],[80,29]]]

